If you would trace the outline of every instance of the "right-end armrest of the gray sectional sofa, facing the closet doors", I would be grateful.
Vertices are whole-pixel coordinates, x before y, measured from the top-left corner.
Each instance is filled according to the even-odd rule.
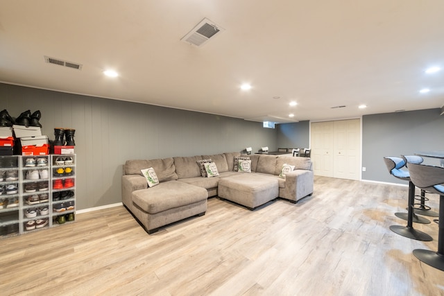
[[[279,196],[293,202],[313,193],[313,171],[295,170],[285,174],[285,187],[280,188]]]

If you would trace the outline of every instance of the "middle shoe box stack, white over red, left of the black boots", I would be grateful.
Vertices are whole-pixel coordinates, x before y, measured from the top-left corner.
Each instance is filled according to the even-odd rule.
[[[36,126],[12,125],[15,134],[15,154],[17,155],[48,155],[48,136]]]

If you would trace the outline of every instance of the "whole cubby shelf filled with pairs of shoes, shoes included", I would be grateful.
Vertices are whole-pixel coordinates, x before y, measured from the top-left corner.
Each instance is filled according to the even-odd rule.
[[[0,238],[74,221],[76,155],[0,157]]]

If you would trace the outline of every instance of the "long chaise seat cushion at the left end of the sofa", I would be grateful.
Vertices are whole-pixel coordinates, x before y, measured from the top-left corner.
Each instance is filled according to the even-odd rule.
[[[179,181],[169,181],[157,186],[133,191],[133,202],[148,214],[182,207],[206,200],[206,189]]]

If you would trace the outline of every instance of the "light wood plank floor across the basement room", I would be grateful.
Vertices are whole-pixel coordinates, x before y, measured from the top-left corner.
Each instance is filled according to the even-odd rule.
[[[437,209],[438,195],[428,195]],[[123,207],[0,240],[0,295],[444,295],[420,263],[434,241],[406,225],[407,187],[316,177],[314,195],[249,211],[212,198],[205,216],[148,235]]]

